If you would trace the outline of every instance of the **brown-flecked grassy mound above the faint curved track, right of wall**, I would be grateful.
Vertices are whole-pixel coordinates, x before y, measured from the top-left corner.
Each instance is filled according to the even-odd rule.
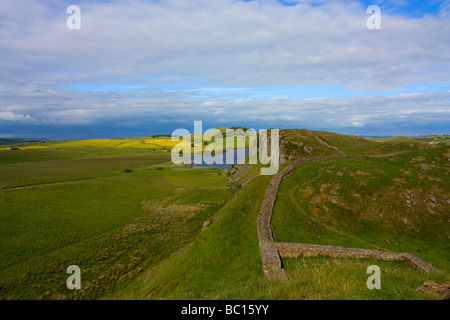
[[[447,239],[446,229],[442,228],[450,199],[449,186],[445,183],[449,179],[447,159],[447,150],[438,148],[396,155],[393,161],[362,157],[312,162],[283,182],[277,205],[295,209],[289,197],[290,190],[295,188],[297,202],[312,215],[326,217],[330,223],[352,231],[379,232],[386,228],[384,224],[389,219],[389,232],[407,232],[410,237],[443,242]],[[426,163],[428,166],[422,167]],[[343,176],[336,175],[338,171]],[[406,198],[408,193],[414,195],[411,200]],[[430,200],[432,195],[437,205]],[[408,205],[408,201],[412,202]],[[295,211],[291,209],[282,208],[280,212]],[[403,222],[405,217],[409,218],[408,223]]]

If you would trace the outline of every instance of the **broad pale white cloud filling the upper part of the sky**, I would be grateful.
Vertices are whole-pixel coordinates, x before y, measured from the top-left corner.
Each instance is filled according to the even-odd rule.
[[[383,14],[382,29],[368,30],[357,2],[80,3],[81,30],[66,28],[63,2],[22,2],[2,1],[0,14],[3,80],[19,74],[12,84],[172,73],[226,86],[379,90],[450,72],[448,19]]]

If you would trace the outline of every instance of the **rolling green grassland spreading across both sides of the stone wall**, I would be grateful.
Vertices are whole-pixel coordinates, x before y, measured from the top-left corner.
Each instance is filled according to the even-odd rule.
[[[349,155],[406,152],[297,169],[278,192],[276,240],[410,252],[443,274],[300,257],[283,259],[288,282],[267,280],[256,220],[272,177],[260,166],[236,187],[227,170],[173,165],[164,137],[155,148],[142,141],[156,138],[85,140],[0,151],[0,299],[436,299],[415,289],[449,278],[450,150],[314,133]],[[282,136],[295,142],[284,151],[335,154],[304,131]],[[366,287],[372,264],[382,290]],[[81,290],[66,287],[70,265]]]

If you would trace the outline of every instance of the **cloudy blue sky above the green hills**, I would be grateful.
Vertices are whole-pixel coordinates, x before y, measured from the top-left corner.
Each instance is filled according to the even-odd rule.
[[[194,121],[450,134],[450,0],[0,0],[0,138]]]

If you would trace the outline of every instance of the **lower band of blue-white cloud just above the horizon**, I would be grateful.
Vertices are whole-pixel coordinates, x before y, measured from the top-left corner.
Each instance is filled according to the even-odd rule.
[[[450,122],[450,91],[321,99],[192,98],[180,92],[139,94],[42,92],[21,95],[14,113],[0,112],[8,121],[51,125],[95,125],[100,122],[166,123],[204,120],[210,123],[264,122],[286,127],[383,126],[402,119],[411,126],[421,121]],[[13,101],[10,103],[13,104]],[[42,106],[46,106],[42,108]]]

